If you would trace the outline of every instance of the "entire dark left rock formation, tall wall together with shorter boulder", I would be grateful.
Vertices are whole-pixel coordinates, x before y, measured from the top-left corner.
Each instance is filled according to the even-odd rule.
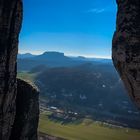
[[[0,0],[0,140],[36,140],[38,91],[16,80],[22,0]]]

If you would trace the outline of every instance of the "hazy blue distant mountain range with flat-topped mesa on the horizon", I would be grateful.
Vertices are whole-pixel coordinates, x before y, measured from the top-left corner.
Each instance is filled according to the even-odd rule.
[[[86,58],[82,56],[68,57],[60,52],[44,52],[41,55],[19,54],[18,56],[18,70],[30,71],[38,65],[45,65],[47,67],[71,67],[81,65],[87,62],[93,63],[110,63],[111,60]],[[111,64],[111,63],[110,63]]]

